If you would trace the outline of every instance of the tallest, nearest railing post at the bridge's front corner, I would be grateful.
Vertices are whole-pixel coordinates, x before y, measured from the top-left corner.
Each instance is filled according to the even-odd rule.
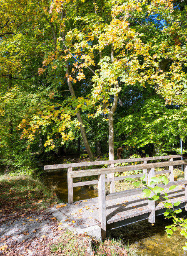
[[[101,237],[106,239],[106,191],[105,174],[98,175],[98,194],[99,194],[99,218],[101,223]]]

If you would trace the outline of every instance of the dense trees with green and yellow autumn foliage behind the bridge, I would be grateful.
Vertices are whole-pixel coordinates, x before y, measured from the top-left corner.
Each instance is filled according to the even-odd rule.
[[[109,159],[114,141],[174,150],[180,135],[185,141],[185,12],[185,3],[172,0],[3,1],[1,154],[8,159],[15,141],[14,150],[21,145],[17,155],[23,148],[37,151],[41,143],[55,150],[80,134],[91,160],[92,141],[108,140]],[[170,133],[158,128],[153,139],[157,119],[146,133],[141,120],[152,113],[160,118],[157,108],[163,110],[157,124]]]

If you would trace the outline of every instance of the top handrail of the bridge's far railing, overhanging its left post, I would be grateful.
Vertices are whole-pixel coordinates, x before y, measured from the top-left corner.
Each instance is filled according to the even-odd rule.
[[[94,166],[94,165],[104,165],[104,164],[120,164],[120,163],[151,161],[151,160],[180,158],[180,157],[182,157],[182,155],[152,156],[152,157],[142,157],[142,158],[132,158],[132,159],[117,159],[117,160],[72,163],[72,164],[52,164],[52,165],[45,165],[44,170],[52,170],[52,169],[56,170],[56,169],[63,169],[63,168],[69,168],[69,167],[82,167],[82,166],[92,166],[92,165]]]

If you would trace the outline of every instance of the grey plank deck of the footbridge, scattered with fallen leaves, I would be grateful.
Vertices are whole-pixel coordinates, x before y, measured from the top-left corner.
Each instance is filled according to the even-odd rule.
[[[181,203],[187,202],[187,199],[185,199],[184,185],[177,186],[177,188],[170,191],[168,195],[170,195],[172,203],[177,201]],[[80,228],[87,228],[93,225],[100,225],[98,204],[98,197],[96,197],[77,201],[73,204],[67,204],[67,206],[60,207],[58,210],[67,216],[67,223],[72,224],[73,220]],[[179,205],[178,208],[180,207]],[[162,202],[155,202],[156,215],[157,211],[160,209],[164,209]],[[125,221],[126,219],[144,215],[149,212],[151,212],[151,210],[148,207],[148,200],[143,197],[142,193],[106,201],[107,224],[122,220]],[[127,222],[127,224],[129,224],[129,222]],[[124,222],[124,225],[127,224]]]

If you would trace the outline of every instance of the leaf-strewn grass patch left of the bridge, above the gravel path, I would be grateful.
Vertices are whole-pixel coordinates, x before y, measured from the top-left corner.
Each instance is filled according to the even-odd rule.
[[[48,189],[38,179],[30,176],[0,175],[1,212],[17,210],[42,210],[60,202],[53,189]]]

